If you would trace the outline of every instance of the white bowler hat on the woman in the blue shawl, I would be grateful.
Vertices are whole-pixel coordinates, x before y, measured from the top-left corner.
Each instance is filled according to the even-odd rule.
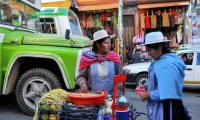
[[[165,40],[162,32],[150,32],[145,36],[145,43],[142,45],[149,45],[160,42],[170,42],[172,40]]]

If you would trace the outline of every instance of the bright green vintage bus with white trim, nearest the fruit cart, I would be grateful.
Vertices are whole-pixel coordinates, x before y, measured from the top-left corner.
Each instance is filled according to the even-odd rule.
[[[84,36],[39,33],[41,4],[32,2],[0,2],[0,95],[15,92],[28,115],[45,92],[74,90],[81,55],[91,49]]]

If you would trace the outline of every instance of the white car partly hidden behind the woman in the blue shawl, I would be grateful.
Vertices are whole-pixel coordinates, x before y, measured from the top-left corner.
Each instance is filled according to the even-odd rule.
[[[178,56],[187,55],[188,59],[193,55],[192,64],[186,65],[184,85],[200,85],[200,49],[178,50]],[[135,83],[136,86],[144,84],[148,80],[148,67],[151,62],[129,64],[123,67],[127,73],[126,82]]]

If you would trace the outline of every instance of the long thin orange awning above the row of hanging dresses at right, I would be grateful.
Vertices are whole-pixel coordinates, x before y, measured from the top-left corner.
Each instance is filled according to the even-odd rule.
[[[138,5],[138,9],[160,8],[160,7],[171,7],[171,6],[182,6],[182,5],[189,5],[189,1],[142,4]]]

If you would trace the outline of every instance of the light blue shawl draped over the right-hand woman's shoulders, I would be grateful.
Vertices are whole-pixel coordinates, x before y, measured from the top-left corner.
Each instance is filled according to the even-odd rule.
[[[155,60],[151,63],[148,71],[150,71],[152,68],[155,69],[158,90],[150,93],[151,99],[182,100],[182,89],[185,77],[184,71],[186,69],[183,60],[174,53],[164,54],[159,58],[159,60]]]

